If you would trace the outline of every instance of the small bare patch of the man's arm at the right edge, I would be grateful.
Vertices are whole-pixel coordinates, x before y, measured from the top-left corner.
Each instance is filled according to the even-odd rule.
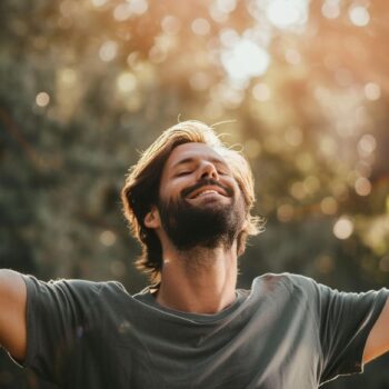
[[[389,299],[372,327],[363,350],[363,363],[389,350]]]

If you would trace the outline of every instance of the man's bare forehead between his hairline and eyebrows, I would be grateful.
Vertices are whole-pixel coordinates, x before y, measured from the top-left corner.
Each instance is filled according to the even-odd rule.
[[[225,158],[213,148],[205,143],[191,142],[176,147],[170,153],[164,168],[170,169],[184,161],[190,162],[199,160],[219,161],[228,164]]]

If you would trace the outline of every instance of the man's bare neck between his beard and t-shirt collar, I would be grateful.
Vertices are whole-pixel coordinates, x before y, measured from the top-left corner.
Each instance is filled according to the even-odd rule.
[[[164,255],[157,302],[186,312],[219,312],[236,299],[237,272],[236,242],[229,249],[182,252],[170,248]]]

